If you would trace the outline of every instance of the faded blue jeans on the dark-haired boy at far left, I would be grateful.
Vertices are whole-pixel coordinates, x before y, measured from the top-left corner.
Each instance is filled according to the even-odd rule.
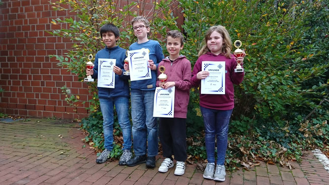
[[[131,150],[132,132],[129,120],[129,98],[99,98],[99,102],[103,114],[104,147],[110,151],[113,149],[113,107],[115,105],[119,125],[122,129],[123,150]]]

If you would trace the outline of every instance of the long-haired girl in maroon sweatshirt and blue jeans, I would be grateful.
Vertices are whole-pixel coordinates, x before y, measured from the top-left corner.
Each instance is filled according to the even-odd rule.
[[[244,73],[235,73],[237,61],[243,64],[246,53],[235,58],[231,54],[232,41],[223,26],[212,26],[205,35],[205,45],[199,52],[193,71],[192,85],[198,87],[201,79],[209,76],[201,70],[202,61],[225,61],[225,94],[201,94],[200,109],[204,120],[205,142],[208,164],[203,178],[225,181],[225,154],[227,148],[228,123],[234,107],[233,84],[240,84]],[[217,166],[215,168],[215,137],[217,137]]]

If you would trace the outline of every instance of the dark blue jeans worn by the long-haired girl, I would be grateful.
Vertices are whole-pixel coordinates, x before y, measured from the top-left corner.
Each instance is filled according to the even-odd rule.
[[[215,162],[215,136],[217,137],[217,164],[224,165],[227,149],[228,123],[232,110],[217,110],[200,106],[204,121],[208,162]]]

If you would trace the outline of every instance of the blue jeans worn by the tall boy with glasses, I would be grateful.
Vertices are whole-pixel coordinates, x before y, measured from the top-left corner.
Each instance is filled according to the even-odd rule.
[[[133,147],[136,156],[158,155],[158,123],[153,117],[154,93],[155,90],[131,89]]]

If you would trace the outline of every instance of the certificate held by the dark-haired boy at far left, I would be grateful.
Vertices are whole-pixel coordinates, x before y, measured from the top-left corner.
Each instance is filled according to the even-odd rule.
[[[115,59],[98,58],[97,87],[114,88],[115,73],[113,72]]]

